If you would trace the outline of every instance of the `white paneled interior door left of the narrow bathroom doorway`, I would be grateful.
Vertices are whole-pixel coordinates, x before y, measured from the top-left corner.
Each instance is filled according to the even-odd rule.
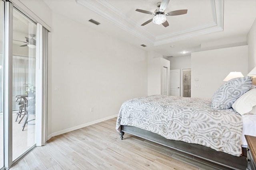
[[[170,70],[170,96],[180,96],[180,70]]]

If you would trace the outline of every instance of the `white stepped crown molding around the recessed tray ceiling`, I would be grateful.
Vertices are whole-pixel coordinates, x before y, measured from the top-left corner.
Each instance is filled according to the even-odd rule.
[[[120,10],[103,0],[76,0],[78,4],[96,12],[97,14],[108,19],[114,25],[124,29],[125,31],[142,39],[150,45],[157,46],[175,41],[181,41],[187,38],[223,31],[224,21],[224,0],[210,0],[212,10],[212,21],[203,25],[198,25],[190,29],[175,31],[168,34],[154,36],[152,33],[144,29],[136,21],[129,16],[120,12]],[[120,20],[122,18],[122,20]]]

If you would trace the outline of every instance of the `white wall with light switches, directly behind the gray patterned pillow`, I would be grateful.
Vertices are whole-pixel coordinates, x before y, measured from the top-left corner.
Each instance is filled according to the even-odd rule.
[[[192,53],[191,97],[212,98],[231,71],[242,72],[244,76],[248,73],[247,45]]]

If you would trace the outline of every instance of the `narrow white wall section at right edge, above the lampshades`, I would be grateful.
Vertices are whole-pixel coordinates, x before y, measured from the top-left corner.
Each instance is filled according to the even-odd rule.
[[[248,44],[248,72],[256,66],[256,20],[247,34]]]

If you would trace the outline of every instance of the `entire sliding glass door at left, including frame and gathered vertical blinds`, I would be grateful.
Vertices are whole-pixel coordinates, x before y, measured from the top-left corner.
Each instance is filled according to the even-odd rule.
[[[48,31],[21,11],[0,0],[0,169],[47,137]]]

